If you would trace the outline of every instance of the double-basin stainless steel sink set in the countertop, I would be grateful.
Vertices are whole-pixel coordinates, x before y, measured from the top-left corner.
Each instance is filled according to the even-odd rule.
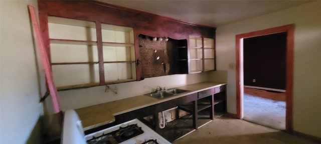
[[[167,90],[146,93],[144,95],[155,97],[157,99],[163,99],[163,98],[170,97],[170,96],[175,96],[177,94],[184,93],[184,92],[187,92],[187,91],[190,91],[190,90],[171,88],[171,89],[167,89]]]

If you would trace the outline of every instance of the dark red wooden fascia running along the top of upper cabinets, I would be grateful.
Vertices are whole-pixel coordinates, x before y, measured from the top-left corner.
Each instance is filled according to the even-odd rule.
[[[48,15],[133,27],[136,33],[157,37],[175,39],[186,39],[189,35],[213,37],[216,29],[93,0],[39,0],[38,7],[40,12]]]

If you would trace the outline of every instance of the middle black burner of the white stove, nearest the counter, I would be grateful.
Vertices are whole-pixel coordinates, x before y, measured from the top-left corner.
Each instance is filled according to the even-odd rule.
[[[144,133],[144,131],[141,130],[141,127],[138,127],[137,124],[130,124],[126,127],[120,126],[112,135],[118,142],[122,142],[141,133]]]

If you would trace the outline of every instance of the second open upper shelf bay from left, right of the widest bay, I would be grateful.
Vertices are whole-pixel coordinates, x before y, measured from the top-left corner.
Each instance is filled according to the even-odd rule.
[[[136,80],[132,27],[101,24],[105,83]]]

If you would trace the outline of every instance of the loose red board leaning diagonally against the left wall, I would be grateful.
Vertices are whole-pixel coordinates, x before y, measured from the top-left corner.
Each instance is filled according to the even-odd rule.
[[[60,112],[60,107],[59,107],[59,98],[58,98],[58,94],[57,94],[57,89],[56,89],[56,86],[55,86],[55,83],[54,83],[54,80],[53,80],[52,70],[51,70],[49,58],[48,58],[48,55],[47,55],[46,47],[44,45],[44,41],[42,39],[40,28],[39,28],[38,23],[37,23],[36,13],[35,13],[35,10],[34,10],[33,6],[28,5],[28,8],[29,8],[29,13],[30,13],[33,29],[34,29],[34,34],[36,35],[36,38],[37,38],[36,41],[37,41],[37,44],[38,44],[39,49],[40,49],[41,58],[42,58],[43,66],[44,66],[44,69],[45,69],[46,80],[47,80],[47,83],[48,83],[48,88],[49,88],[49,91],[50,91],[50,95],[52,97],[54,111],[55,111],[55,113],[59,113]]]

